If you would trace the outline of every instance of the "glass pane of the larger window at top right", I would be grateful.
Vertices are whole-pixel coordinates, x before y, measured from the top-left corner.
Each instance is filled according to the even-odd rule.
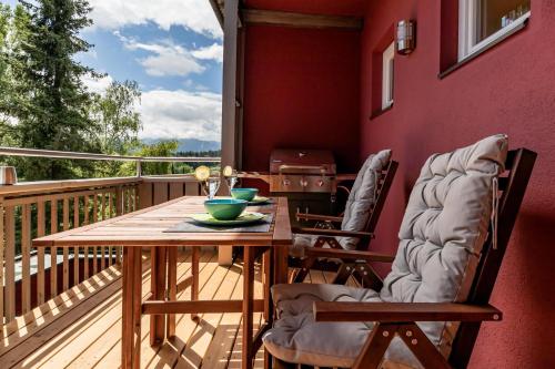
[[[478,0],[476,11],[478,43],[529,11],[529,0]]]

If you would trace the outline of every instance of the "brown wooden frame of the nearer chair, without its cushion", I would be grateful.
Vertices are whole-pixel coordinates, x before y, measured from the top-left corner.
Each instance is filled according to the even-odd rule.
[[[362,351],[352,368],[379,368],[392,339],[398,336],[424,368],[466,368],[478,336],[482,321],[500,321],[503,314],[490,305],[490,297],[500,271],[518,209],[532,175],[536,153],[526,148],[508,152],[506,176],[498,180],[498,228],[492,229],[482,248],[480,263],[472,280],[466,303],[326,303],[315,301],[314,319],[317,322],[374,321]],[[496,232],[495,232],[496,230]],[[496,234],[496,237],[493,235]],[[370,252],[313,249],[313,257],[364,259],[369,263],[391,263],[394,257]],[[373,274],[372,269],[366,270]],[[379,290],[382,280],[371,277]],[[460,322],[452,341],[451,353],[444,357],[416,321]],[[296,365],[274,360],[274,368],[295,368]],[[309,368],[302,366],[302,368]]]

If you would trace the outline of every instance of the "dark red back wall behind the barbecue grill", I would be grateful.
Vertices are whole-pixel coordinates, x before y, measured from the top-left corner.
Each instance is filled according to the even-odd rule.
[[[360,32],[249,25],[243,168],[268,171],[274,147],[331,148],[359,165]]]

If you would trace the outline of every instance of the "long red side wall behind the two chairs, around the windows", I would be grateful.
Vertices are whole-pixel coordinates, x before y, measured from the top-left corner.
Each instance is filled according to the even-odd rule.
[[[425,158],[494,133],[538,161],[495,286],[504,321],[482,329],[472,368],[555,368],[555,2],[532,0],[523,32],[440,80],[441,1],[372,1],[362,37],[362,156],[392,147],[401,162],[374,247],[394,252]],[[369,120],[372,51],[397,20],[417,21],[416,51],[395,59],[394,106]],[[353,136],[356,133],[352,133]]]

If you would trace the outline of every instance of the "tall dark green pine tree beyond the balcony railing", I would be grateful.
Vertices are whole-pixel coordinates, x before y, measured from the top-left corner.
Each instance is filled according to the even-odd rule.
[[[91,94],[82,83],[94,71],[74,55],[92,47],[79,32],[91,25],[87,0],[20,0],[29,16],[26,42],[14,55],[14,74],[21,81],[22,99],[13,115],[22,147],[60,151],[98,151],[90,142],[94,124],[89,117]],[[27,162],[27,180],[58,180],[85,175],[87,163],[67,161]],[[29,165],[31,167],[29,167]]]

